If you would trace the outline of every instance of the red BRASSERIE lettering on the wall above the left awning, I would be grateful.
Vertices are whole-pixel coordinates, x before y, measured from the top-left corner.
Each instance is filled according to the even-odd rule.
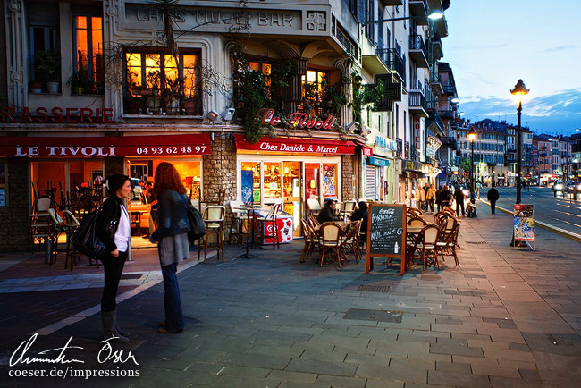
[[[45,107],[38,107],[32,111],[27,106],[22,108],[22,112],[17,113],[12,106],[3,107],[0,110],[1,122],[69,122],[69,123],[112,123],[113,108],[61,108],[55,106],[50,111]]]

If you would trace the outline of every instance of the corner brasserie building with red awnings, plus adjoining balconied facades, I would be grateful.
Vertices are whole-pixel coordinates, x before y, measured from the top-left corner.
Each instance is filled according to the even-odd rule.
[[[35,198],[63,209],[111,173],[152,181],[163,160],[195,202],[280,204],[295,237],[307,199],[409,200],[439,173],[427,101],[455,96],[438,75],[447,23],[427,18],[449,6],[4,2],[0,230],[17,237],[0,249],[29,248]]]

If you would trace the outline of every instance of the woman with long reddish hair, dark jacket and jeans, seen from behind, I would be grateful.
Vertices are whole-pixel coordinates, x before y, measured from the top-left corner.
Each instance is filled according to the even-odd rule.
[[[159,333],[181,333],[183,312],[180,288],[176,276],[178,264],[189,257],[188,202],[186,188],[180,173],[167,162],[156,168],[154,192],[157,196],[157,229],[151,236],[157,241],[159,262],[164,276],[165,321],[160,323]]]

